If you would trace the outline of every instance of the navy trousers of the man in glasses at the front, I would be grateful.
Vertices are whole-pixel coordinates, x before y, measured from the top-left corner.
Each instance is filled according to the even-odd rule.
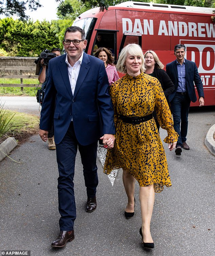
[[[63,140],[56,144],[59,171],[58,205],[61,215],[59,220],[60,231],[73,230],[76,219],[73,178],[77,149],[81,155],[87,197],[94,197],[96,195],[96,187],[98,185],[96,165],[97,141],[87,146],[80,145],[75,136],[73,122],[71,122]]]

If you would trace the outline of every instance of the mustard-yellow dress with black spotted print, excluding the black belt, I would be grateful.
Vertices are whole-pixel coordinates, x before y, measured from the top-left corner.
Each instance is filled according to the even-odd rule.
[[[155,192],[161,192],[164,185],[170,187],[167,159],[154,118],[133,125],[118,117],[119,114],[142,117],[156,108],[158,122],[168,132],[164,142],[176,142],[178,134],[159,81],[143,73],[136,77],[126,74],[112,84],[110,94],[116,140],[114,148],[107,150],[104,173],[122,168],[132,174],[141,187],[154,184]]]

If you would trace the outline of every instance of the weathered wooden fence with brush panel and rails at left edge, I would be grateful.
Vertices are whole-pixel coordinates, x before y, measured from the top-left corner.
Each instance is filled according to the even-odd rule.
[[[35,57],[0,57],[0,78],[19,78],[20,83],[0,83],[0,87],[37,87],[39,84],[23,84],[23,79],[37,79]]]

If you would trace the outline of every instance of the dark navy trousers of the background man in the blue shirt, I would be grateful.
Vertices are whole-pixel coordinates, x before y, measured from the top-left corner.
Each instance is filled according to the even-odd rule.
[[[176,92],[174,98],[171,100],[173,127],[179,135],[176,146],[182,146],[182,142],[187,140],[190,102],[191,100],[187,93],[181,94]]]

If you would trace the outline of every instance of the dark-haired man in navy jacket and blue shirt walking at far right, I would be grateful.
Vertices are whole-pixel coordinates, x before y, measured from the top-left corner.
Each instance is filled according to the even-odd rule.
[[[175,90],[169,95],[169,101],[173,114],[174,129],[178,133],[175,154],[180,156],[182,147],[190,149],[187,140],[188,112],[190,102],[197,100],[194,83],[199,96],[199,107],[204,106],[203,84],[195,62],[184,59],[186,47],[178,44],[174,48],[176,60],[168,63],[167,74],[174,83]],[[193,83],[194,82],[194,83]]]

